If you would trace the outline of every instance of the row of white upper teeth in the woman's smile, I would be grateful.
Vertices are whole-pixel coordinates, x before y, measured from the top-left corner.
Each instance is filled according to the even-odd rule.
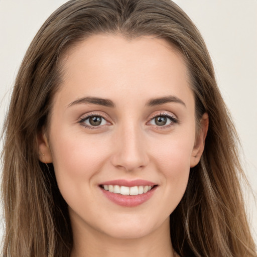
[[[151,186],[135,186],[135,187],[125,187],[125,186],[117,186],[117,185],[103,185],[104,190],[109,191],[114,194],[121,195],[139,195],[149,192],[152,187]]]

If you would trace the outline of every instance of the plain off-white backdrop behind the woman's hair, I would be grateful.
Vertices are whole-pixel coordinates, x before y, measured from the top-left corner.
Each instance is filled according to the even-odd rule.
[[[0,0],[1,127],[26,49],[47,17],[65,2]],[[174,2],[196,24],[212,57],[220,90],[241,139],[242,161],[253,191],[245,191],[246,207],[252,230],[257,231],[253,197],[257,193],[257,0]],[[0,229],[0,236],[2,233]]]

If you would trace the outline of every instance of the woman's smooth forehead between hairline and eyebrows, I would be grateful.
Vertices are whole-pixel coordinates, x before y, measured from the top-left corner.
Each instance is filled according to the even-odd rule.
[[[61,91],[70,99],[78,94],[134,97],[136,92],[147,101],[167,94],[187,98],[191,92],[183,56],[154,36],[90,36],[67,51],[62,71]]]

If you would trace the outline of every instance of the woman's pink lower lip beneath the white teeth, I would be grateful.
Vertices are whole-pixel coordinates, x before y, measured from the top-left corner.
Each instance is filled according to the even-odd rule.
[[[139,194],[139,195],[121,195],[121,194],[111,193],[109,191],[104,190],[103,188],[101,188],[101,190],[103,194],[113,203],[118,204],[120,206],[125,206],[125,207],[135,207],[149,200],[154,194],[156,188],[157,186],[152,188],[147,193]]]

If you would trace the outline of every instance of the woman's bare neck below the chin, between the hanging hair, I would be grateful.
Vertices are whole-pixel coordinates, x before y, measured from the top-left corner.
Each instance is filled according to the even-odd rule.
[[[81,227],[73,223],[72,228],[71,257],[177,256],[170,239],[169,218],[158,229],[139,238],[115,238],[88,225]]]

